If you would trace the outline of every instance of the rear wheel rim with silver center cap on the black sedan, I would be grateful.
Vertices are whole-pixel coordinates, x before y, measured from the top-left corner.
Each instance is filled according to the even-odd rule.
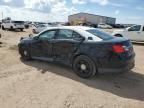
[[[84,60],[80,60],[77,62],[76,69],[79,73],[84,75],[89,74],[89,72],[91,71],[89,63]]]

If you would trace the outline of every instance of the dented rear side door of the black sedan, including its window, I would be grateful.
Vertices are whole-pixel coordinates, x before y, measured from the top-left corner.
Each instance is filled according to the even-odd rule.
[[[53,43],[53,54],[57,59],[68,61],[77,51],[82,36],[68,29],[59,30]]]

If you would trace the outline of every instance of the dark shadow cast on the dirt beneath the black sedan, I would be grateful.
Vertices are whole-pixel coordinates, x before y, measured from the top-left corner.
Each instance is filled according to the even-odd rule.
[[[21,61],[26,65],[35,67],[43,74],[52,72],[85,84],[88,87],[103,90],[123,98],[144,101],[144,74],[132,71],[119,74],[97,74],[94,78],[82,79],[79,78],[70,67],[61,64],[36,60],[28,62]]]

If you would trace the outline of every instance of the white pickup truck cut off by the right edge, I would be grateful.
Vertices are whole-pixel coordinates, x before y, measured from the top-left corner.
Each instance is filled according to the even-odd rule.
[[[144,41],[144,25],[134,25],[123,30],[115,30],[116,37],[126,37],[134,41]]]

